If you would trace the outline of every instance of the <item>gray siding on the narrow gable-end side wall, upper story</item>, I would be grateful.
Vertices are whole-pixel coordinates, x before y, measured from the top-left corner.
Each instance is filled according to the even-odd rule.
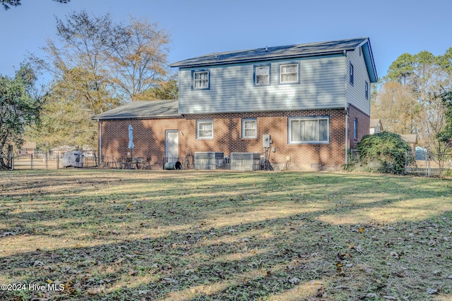
[[[359,49],[348,51],[347,61],[353,64],[355,70],[355,82],[354,85],[350,85],[350,74],[348,74],[349,68],[347,66],[347,101],[370,116],[370,80],[364,56],[362,54],[359,56]],[[365,82],[369,84],[369,99],[365,97]]]

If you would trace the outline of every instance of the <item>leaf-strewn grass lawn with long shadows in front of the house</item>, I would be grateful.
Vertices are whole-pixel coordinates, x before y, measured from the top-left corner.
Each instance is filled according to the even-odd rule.
[[[359,173],[3,171],[0,300],[452,300],[451,192]]]

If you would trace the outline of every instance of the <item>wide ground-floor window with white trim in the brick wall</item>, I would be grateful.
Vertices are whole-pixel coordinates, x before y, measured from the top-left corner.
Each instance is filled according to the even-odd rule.
[[[328,143],[329,118],[289,118],[289,143]]]

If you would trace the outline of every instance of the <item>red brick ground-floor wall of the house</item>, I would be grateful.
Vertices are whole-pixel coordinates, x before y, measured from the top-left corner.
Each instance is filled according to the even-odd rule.
[[[330,143],[288,144],[288,118],[302,116],[329,116]],[[257,119],[257,139],[242,139],[242,118]],[[350,145],[355,145],[355,141],[352,141],[354,118],[359,118],[359,139],[364,132],[369,131],[369,116],[350,106]],[[196,140],[196,120],[199,119],[213,120],[213,140]],[[114,161],[116,157],[130,155],[129,124],[133,126],[135,145],[133,156],[152,156],[152,163],[156,167],[162,166],[165,156],[165,130],[179,130],[179,158],[194,152],[224,152],[225,156],[229,156],[231,152],[263,154],[262,135],[269,134],[273,140],[272,147],[275,147],[275,152],[270,154],[270,162],[278,168],[338,169],[345,163],[345,112],[343,109],[222,113],[190,115],[181,118],[102,121],[103,161]]]

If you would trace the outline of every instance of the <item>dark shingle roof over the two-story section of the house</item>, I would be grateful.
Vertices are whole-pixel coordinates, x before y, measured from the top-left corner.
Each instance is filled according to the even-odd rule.
[[[299,56],[314,56],[322,54],[331,54],[354,50],[359,44],[368,40],[367,37],[355,39],[340,39],[330,42],[316,42],[307,44],[296,44],[278,47],[265,47],[258,49],[215,52],[203,56],[196,56],[193,59],[186,59],[172,63],[171,67],[189,67],[213,65],[216,63],[233,63],[242,61],[258,61],[261,59],[280,59]]]

